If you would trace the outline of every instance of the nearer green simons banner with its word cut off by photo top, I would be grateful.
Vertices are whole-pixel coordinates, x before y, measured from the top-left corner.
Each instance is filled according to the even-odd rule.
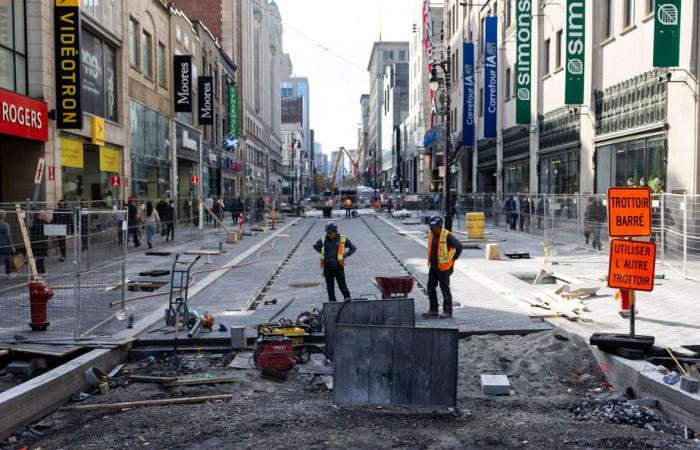
[[[586,0],[566,1],[566,84],[564,103],[583,104],[586,61]]]

